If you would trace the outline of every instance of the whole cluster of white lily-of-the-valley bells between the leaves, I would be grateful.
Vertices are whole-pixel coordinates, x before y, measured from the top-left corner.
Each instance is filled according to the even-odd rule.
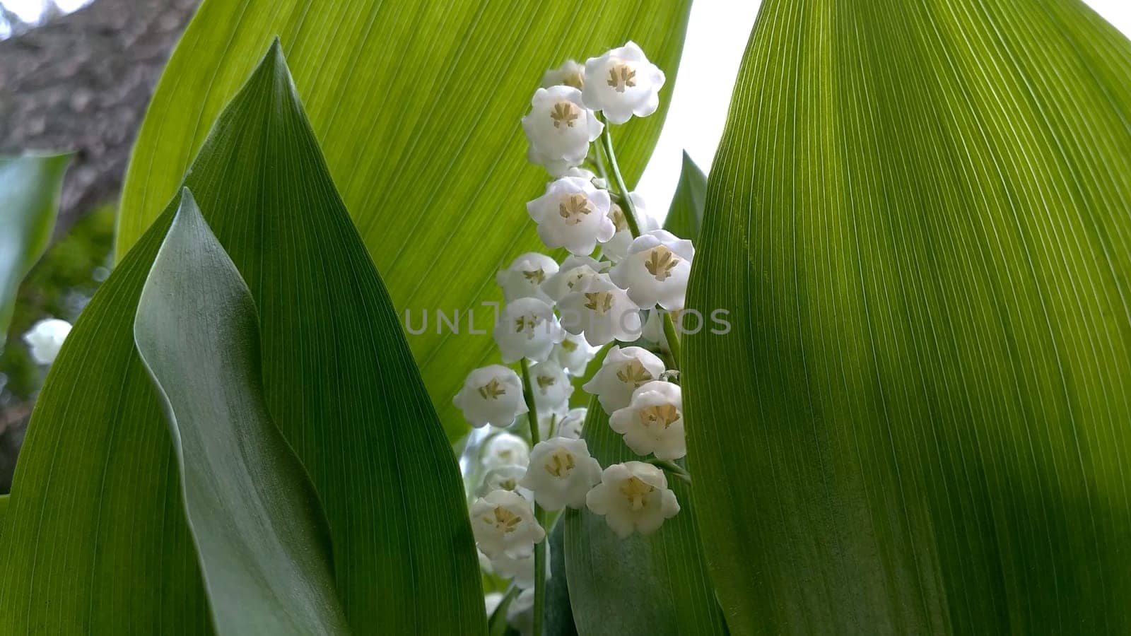
[[[546,248],[568,256],[523,253],[498,273],[506,304],[493,336],[502,362],[520,362],[523,375],[501,364],[475,369],[454,402],[474,427],[499,431],[477,432],[468,445],[481,562],[528,592],[537,583],[532,553],[553,518],[543,512],[588,508],[629,536],[655,532],[680,510],[657,464],[681,470],[672,461],[687,454],[683,401],[670,381],[674,363],[657,354],[672,349],[656,325],[683,309],[694,248],[661,230],[644,198],[624,188],[606,129],[654,113],[663,85],[663,71],[629,42],[546,71],[523,118],[527,158],[551,175],[526,210]],[[598,347],[599,368],[581,384]],[[581,438],[586,409],[569,409],[577,384],[653,463],[602,469]],[[508,428],[528,429],[533,447],[500,430]],[[532,594],[515,599],[509,613],[525,611]]]

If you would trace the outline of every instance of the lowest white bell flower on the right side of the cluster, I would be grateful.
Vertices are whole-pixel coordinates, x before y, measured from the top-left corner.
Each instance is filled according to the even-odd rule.
[[[632,532],[650,534],[680,512],[675,492],[667,488],[664,471],[644,462],[613,464],[601,483],[585,497],[585,504],[621,539]]]

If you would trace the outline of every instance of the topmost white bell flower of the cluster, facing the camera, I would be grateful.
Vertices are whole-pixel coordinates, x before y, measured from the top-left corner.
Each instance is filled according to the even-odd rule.
[[[602,111],[612,123],[656,112],[663,86],[664,71],[648,61],[636,42],[585,61],[585,105]]]

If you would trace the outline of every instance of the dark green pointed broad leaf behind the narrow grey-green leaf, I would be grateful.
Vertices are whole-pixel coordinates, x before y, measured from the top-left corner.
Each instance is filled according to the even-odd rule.
[[[463,484],[282,51],[185,179],[259,309],[267,410],[310,474],[356,634],[482,634]],[[52,366],[0,538],[0,633],[199,634],[209,620],[161,403],[132,341],[169,203]]]

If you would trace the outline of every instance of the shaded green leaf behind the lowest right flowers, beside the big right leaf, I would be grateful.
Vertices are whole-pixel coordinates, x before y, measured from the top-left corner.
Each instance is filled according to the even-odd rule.
[[[596,398],[582,438],[602,466],[641,459],[608,427]],[[667,484],[680,514],[648,536],[621,539],[588,508],[566,512],[566,575],[578,634],[726,633],[707,576],[691,489],[671,474]]]

